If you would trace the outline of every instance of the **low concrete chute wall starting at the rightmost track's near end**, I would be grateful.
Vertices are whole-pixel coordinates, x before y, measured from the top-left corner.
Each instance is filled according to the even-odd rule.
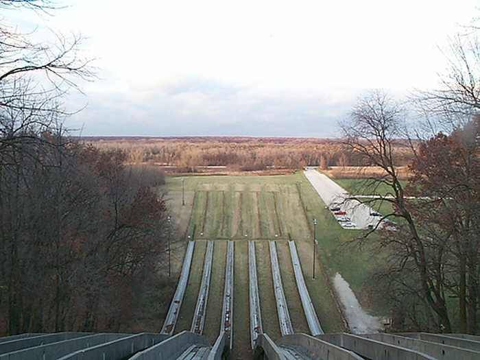
[[[324,334],[318,339],[328,341],[342,348],[357,353],[361,357],[375,360],[435,360],[434,357],[422,352],[403,348],[401,346],[386,344],[373,339],[366,339],[352,334]]]

